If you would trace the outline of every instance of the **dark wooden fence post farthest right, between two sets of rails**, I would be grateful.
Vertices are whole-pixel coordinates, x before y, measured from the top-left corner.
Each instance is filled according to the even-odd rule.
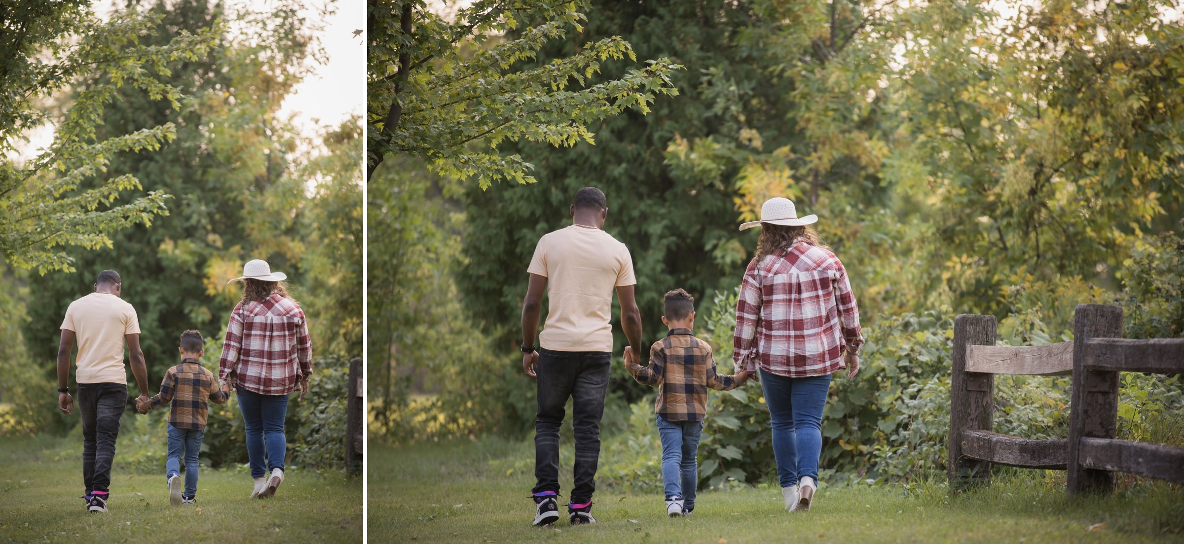
[[[1118,374],[1086,369],[1086,342],[1089,338],[1121,338],[1122,309],[1101,304],[1080,304],[1073,317],[1073,402],[1069,413],[1070,496],[1086,492],[1109,493],[1114,475],[1081,466],[1081,439],[1113,439],[1118,434]]]

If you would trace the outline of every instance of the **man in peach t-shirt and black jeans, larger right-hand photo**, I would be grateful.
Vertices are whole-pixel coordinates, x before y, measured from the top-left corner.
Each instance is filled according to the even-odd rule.
[[[559,428],[572,399],[575,435],[573,487],[567,514],[573,525],[592,523],[592,493],[600,458],[600,416],[612,361],[612,292],[630,345],[642,345],[642,315],[633,298],[629,248],[604,232],[609,203],[600,189],[585,187],[568,208],[572,225],[545,234],[527,268],[522,303],[522,369],[534,377],[539,412],[534,422],[534,525],[559,519]],[[542,293],[547,322],[535,345]],[[636,352],[636,351],[635,351]]]

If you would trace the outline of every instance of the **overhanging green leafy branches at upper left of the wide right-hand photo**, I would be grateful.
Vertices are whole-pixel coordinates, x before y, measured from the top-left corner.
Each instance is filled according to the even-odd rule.
[[[591,84],[603,63],[637,61],[616,35],[523,67],[546,45],[584,31],[580,1],[478,0],[451,20],[422,0],[368,4],[371,174],[386,154],[408,154],[442,175],[476,177],[482,189],[500,180],[532,183],[533,166],[519,155],[502,156],[498,144],[593,143],[587,124],[628,109],[648,114],[657,95],[677,92],[670,73],[681,66],[665,58]]]

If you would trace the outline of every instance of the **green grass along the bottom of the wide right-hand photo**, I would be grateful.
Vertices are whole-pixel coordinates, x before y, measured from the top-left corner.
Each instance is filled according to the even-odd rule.
[[[570,445],[565,447],[571,447]],[[659,494],[597,492],[599,523],[530,526],[533,478],[523,443],[419,443],[369,456],[371,542],[1180,542],[1184,491],[1135,483],[1108,498],[1070,500],[1056,475],[1009,472],[961,497],[938,485],[823,487],[809,512],[786,512],[780,490],[700,492],[695,513],[668,519]],[[655,452],[657,455],[657,452]],[[509,467],[509,468],[507,468]],[[571,467],[564,467],[570,472]],[[1063,478],[1061,479],[1063,481]],[[562,481],[571,488],[570,478]],[[1089,527],[1095,524],[1095,531]]]

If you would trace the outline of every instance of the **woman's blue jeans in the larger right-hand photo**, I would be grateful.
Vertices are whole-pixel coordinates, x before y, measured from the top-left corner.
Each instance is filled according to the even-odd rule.
[[[785,377],[761,370],[760,388],[773,423],[773,456],[781,487],[806,477],[818,481],[822,410],[826,407],[830,375]]]

